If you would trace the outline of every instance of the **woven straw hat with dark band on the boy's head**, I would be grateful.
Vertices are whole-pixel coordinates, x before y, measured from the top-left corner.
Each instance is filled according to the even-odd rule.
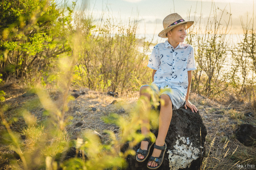
[[[162,38],[167,38],[166,34],[173,29],[174,27],[181,25],[183,23],[187,23],[187,29],[194,24],[194,21],[185,21],[183,18],[177,14],[173,13],[168,15],[167,17],[164,18],[163,20],[163,26],[164,30],[161,31],[158,36]]]

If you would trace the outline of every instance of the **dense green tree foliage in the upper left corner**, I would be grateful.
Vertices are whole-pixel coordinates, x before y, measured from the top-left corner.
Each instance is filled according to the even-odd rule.
[[[28,80],[70,51],[65,32],[71,13],[48,0],[1,1],[0,72]]]

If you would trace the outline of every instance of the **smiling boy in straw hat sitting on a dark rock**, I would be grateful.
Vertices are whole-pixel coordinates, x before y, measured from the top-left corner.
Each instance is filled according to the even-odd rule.
[[[160,95],[159,130],[155,139],[144,138],[141,146],[137,150],[136,160],[143,162],[149,155],[151,146],[154,145],[152,155],[148,160],[149,169],[157,169],[161,166],[164,152],[166,150],[165,137],[171,122],[172,110],[184,106],[189,107],[192,112],[197,112],[195,105],[188,100],[192,79],[192,70],[196,69],[193,47],[185,44],[187,35],[186,29],[194,24],[194,21],[184,21],[177,13],[170,14],[163,20],[164,30],[158,36],[168,38],[164,43],[154,46],[150,56],[148,67],[153,69],[152,84],[141,86],[140,99],[142,99],[143,109],[140,109],[141,133],[149,136],[149,116],[150,113],[150,91],[159,93],[160,89],[165,89]]]

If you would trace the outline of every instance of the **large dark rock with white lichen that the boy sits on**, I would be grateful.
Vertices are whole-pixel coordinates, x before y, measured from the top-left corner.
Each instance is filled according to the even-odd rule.
[[[200,135],[201,130],[201,135]],[[158,129],[151,130],[157,136]],[[205,155],[205,137],[207,130],[203,124],[199,112],[193,113],[190,109],[183,107],[173,111],[170,127],[165,139],[167,149],[164,160],[158,170],[197,170],[200,169]],[[138,143],[134,150],[140,146]],[[125,151],[125,145],[121,151]],[[150,155],[153,149],[150,150]],[[146,159],[144,162],[137,162],[134,155],[126,159],[127,170],[148,170]]]

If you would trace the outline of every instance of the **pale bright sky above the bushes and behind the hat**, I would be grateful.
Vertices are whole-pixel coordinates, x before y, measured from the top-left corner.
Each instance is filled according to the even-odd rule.
[[[102,11],[108,8],[111,15],[115,18],[127,22],[129,18],[137,17],[139,20],[138,34],[158,34],[162,29],[163,19],[170,13],[178,13],[187,21],[188,11],[191,10],[190,18],[202,17],[202,20],[208,19],[211,11],[211,0],[80,0],[83,4],[89,3],[89,12],[94,19],[100,18]],[[251,18],[253,14],[256,19],[256,0],[214,0],[215,6],[225,9],[224,19],[228,18],[226,14],[231,8],[232,29],[231,33],[241,32],[240,17],[246,21],[246,16]],[[201,7],[202,5],[202,7]],[[202,14],[200,11],[202,9]],[[220,14],[217,13],[217,14]],[[220,16],[220,15],[218,15]],[[255,22],[256,24],[256,22]]]

